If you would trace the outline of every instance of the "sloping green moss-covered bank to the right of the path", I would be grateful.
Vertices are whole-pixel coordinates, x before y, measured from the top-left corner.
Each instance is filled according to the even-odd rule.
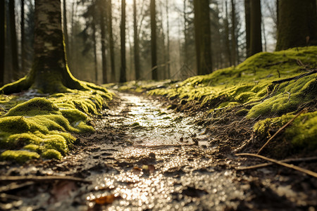
[[[179,104],[194,101],[210,113],[217,113],[219,109],[223,112],[239,108],[235,109],[235,115],[245,116],[254,122],[259,120],[254,132],[262,138],[268,135],[272,127],[286,123],[294,113],[310,108],[309,113],[300,115],[293,122],[283,137],[290,148],[314,151],[317,149],[317,124],[314,124],[317,118],[317,74],[282,83],[273,82],[302,75],[316,68],[317,46],[310,46],[257,53],[236,67],[190,77],[182,82],[130,82],[120,89],[177,98]]]

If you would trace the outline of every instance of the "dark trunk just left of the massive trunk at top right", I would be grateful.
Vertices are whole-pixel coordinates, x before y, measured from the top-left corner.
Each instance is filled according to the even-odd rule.
[[[261,32],[261,1],[250,1],[250,55],[262,51],[262,32]]]

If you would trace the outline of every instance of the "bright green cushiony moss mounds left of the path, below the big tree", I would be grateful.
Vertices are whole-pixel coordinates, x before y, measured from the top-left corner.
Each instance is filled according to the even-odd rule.
[[[112,94],[106,89],[52,94],[27,99],[0,96],[0,159],[25,162],[34,158],[61,159],[75,141],[72,134],[94,132],[87,124]]]

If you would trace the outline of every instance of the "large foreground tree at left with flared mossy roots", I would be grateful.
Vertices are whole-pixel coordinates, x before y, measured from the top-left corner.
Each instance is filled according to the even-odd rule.
[[[11,94],[30,88],[42,93],[66,92],[69,89],[106,91],[94,84],[80,82],[71,75],[63,45],[60,0],[35,1],[34,50],[31,71],[17,82],[1,87],[0,93]]]

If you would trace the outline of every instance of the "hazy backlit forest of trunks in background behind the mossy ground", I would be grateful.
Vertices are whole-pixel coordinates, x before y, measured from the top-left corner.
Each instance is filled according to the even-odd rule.
[[[35,1],[0,3],[0,85],[32,68]],[[315,0],[62,0],[61,7],[70,71],[97,84],[185,79],[260,51],[316,44]],[[285,35],[292,28],[297,37]]]

